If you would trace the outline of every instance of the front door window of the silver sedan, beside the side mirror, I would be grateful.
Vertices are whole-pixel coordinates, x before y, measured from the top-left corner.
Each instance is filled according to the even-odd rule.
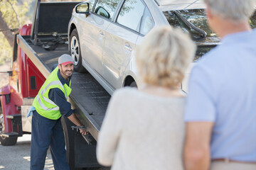
[[[98,0],[95,6],[95,13],[105,18],[112,19],[119,0]]]

